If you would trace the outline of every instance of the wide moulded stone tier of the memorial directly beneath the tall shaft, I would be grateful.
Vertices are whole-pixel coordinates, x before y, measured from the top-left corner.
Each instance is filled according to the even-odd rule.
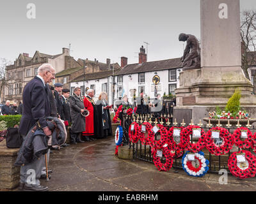
[[[253,86],[241,68],[202,68],[180,73],[180,87],[175,90],[177,106],[227,105],[236,89],[241,91],[241,106],[255,106]]]

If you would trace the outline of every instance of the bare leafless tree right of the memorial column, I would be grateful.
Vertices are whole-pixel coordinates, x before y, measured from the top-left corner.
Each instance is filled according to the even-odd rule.
[[[256,11],[241,13],[242,69],[250,80],[248,68],[256,63]]]

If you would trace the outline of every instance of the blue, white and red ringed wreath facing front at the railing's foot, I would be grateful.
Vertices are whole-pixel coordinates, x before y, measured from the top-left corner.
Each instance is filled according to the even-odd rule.
[[[193,177],[202,177],[209,170],[209,161],[205,159],[204,152],[192,153],[194,160],[189,158],[191,152],[187,151],[182,157],[182,168],[188,175]]]

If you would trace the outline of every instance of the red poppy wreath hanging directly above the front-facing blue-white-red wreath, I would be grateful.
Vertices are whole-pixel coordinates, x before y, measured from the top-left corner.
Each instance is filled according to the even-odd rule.
[[[200,138],[198,138],[198,142],[191,143],[190,135],[193,135],[193,129],[200,129]],[[200,126],[188,126],[182,129],[180,133],[180,145],[186,150],[191,152],[199,152],[205,147],[205,132],[204,129],[200,128]]]

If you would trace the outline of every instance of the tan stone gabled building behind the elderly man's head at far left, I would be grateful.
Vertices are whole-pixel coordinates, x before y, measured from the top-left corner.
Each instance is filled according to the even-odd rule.
[[[6,66],[6,85],[2,103],[6,100],[16,103],[22,101],[24,86],[37,75],[38,68],[44,63],[52,64],[56,73],[79,66],[69,55],[68,48],[63,48],[62,53],[58,55],[43,54],[39,51],[36,51],[33,57],[26,53],[20,54],[13,64]]]

